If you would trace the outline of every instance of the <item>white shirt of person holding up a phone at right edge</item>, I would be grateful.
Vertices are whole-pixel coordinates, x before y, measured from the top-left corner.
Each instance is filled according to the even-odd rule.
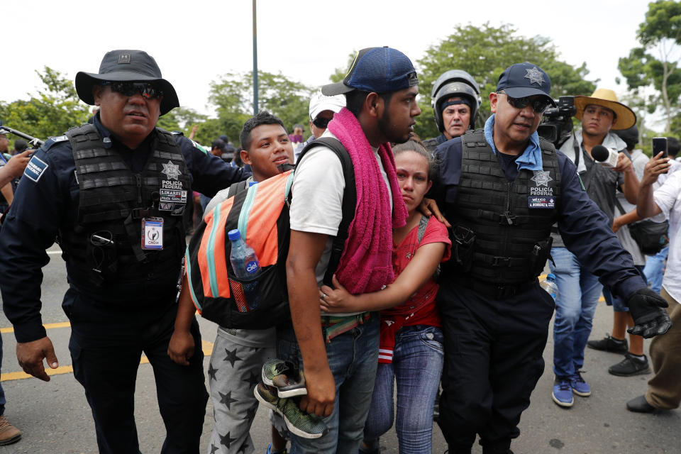
[[[673,172],[655,189],[653,198],[662,210],[653,221],[669,219],[669,255],[662,286],[673,299],[681,302],[681,172]]]

